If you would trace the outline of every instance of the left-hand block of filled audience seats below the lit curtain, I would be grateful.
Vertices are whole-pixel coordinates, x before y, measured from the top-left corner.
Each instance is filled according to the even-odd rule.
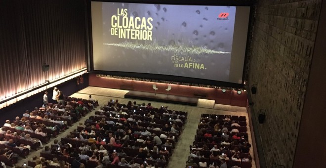
[[[96,102],[91,103],[96,106]],[[7,120],[0,130],[0,161],[13,166],[18,156],[26,158],[30,150],[43,148],[51,137],[56,137],[89,111],[78,109],[78,104],[91,109],[88,100],[67,97],[64,106],[48,103],[34,111],[27,110],[11,123]]]

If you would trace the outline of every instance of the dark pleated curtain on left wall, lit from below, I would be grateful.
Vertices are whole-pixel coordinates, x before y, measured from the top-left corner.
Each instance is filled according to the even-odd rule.
[[[84,4],[0,0],[0,100],[86,67]]]

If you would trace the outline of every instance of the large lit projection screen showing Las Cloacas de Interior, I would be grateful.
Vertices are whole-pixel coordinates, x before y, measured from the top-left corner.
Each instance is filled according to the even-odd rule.
[[[92,1],[93,70],[241,84],[249,11]]]

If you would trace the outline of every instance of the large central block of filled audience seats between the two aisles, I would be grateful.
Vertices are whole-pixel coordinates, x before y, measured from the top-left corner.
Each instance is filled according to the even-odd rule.
[[[80,163],[86,168],[101,164],[105,168],[125,168],[121,163],[122,158],[128,162],[127,165],[131,162],[130,165],[135,168],[146,164],[165,168],[188,113],[167,110],[165,107],[153,108],[150,104],[140,106],[130,103],[117,105],[116,108],[109,104],[101,107],[76,131],[61,138],[60,148],[66,149],[70,144],[70,154],[65,155],[60,150],[61,154],[57,153],[54,146],[50,152],[42,151],[41,157],[47,160],[58,158],[71,164],[84,152],[90,159],[81,159]],[[113,163],[113,154],[117,154],[119,162]],[[103,159],[105,156],[109,156],[110,161]],[[29,166],[34,165],[29,163]]]

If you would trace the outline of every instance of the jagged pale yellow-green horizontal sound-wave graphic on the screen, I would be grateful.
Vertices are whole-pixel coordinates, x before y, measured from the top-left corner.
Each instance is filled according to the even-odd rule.
[[[149,43],[149,44],[142,44],[139,42],[121,42],[121,43],[103,43],[104,45],[110,46],[119,46],[124,47],[127,49],[133,50],[147,50],[154,53],[162,52],[162,51],[171,51],[174,53],[179,54],[230,54],[231,52],[224,52],[224,51],[215,51],[212,49],[207,49],[205,47],[198,47],[198,46],[186,46],[186,45],[159,45],[156,42]]]

